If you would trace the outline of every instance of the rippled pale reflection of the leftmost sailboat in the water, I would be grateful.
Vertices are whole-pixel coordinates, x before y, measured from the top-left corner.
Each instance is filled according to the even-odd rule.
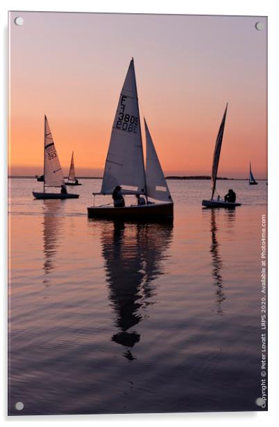
[[[55,268],[56,253],[60,244],[63,224],[63,203],[61,200],[42,200],[43,222],[42,235],[44,244],[44,284],[49,286],[47,278]]]

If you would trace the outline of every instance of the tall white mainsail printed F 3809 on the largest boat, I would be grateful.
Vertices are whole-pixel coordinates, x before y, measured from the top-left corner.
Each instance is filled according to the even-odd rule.
[[[119,97],[110,146],[105,160],[101,193],[111,194],[115,186],[123,192],[146,192],[140,112],[133,59]]]

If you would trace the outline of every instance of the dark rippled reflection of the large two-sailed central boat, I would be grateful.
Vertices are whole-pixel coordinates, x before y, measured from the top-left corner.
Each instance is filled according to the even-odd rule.
[[[136,326],[155,302],[154,280],[164,274],[162,260],[172,228],[172,224],[103,223],[101,245],[118,329],[112,341],[126,348],[128,360],[135,358],[131,349],[140,341]]]

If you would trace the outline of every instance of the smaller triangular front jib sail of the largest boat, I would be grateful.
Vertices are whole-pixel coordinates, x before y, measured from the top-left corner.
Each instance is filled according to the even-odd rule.
[[[155,200],[172,202],[171,193],[167,186],[158,155],[156,153],[149,128],[144,119],[146,136],[146,187],[147,195]]]

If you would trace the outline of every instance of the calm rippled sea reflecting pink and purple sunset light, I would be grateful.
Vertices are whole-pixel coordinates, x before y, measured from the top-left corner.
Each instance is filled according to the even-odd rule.
[[[101,180],[81,182],[43,201],[10,181],[10,414],[262,410],[266,182],[217,182],[228,211],[171,181],[173,225],[89,220]]]

